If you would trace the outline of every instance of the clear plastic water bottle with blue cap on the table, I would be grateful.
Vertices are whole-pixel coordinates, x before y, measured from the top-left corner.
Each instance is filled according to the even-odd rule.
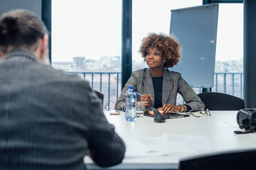
[[[125,93],[125,119],[127,121],[136,121],[136,101],[137,96],[134,87],[129,85]]]

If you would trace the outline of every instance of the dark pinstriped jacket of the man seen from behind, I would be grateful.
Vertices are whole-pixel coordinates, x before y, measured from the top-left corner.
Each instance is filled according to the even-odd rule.
[[[82,170],[88,152],[103,167],[125,154],[89,83],[29,51],[0,60],[0,169]]]

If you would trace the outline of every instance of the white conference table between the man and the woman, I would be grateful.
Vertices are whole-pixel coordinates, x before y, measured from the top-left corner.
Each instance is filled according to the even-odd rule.
[[[218,151],[255,149],[256,134],[235,134],[240,130],[238,111],[211,111],[211,117],[183,117],[155,123],[152,117],[134,122],[125,120],[125,113],[110,115],[109,121],[125,141],[127,152],[120,165],[108,169],[178,169],[181,158]],[[196,115],[200,115],[199,113]],[[87,169],[100,169],[85,158]]]

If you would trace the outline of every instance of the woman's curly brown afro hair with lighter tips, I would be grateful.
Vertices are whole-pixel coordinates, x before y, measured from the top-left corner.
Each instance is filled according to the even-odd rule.
[[[149,36],[143,38],[142,45],[140,46],[140,53],[142,58],[146,58],[150,48],[156,47],[162,53],[164,58],[164,68],[175,66],[180,62],[180,43],[175,40],[173,36],[164,34],[149,33]]]

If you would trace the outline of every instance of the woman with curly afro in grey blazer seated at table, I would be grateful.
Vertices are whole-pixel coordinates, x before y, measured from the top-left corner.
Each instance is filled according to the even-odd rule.
[[[143,38],[140,53],[149,68],[132,73],[116,101],[115,109],[125,110],[125,93],[129,85],[134,86],[137,93],[143,94],[138,96],[138,100],[145,101],[148,109],[158,108],[164,114],[204,108],[204,103],[180,73],[168,70],[180,62],[180,48],[180,43],[172,36],[150,33]],[[186,104],[176,106],[177,93],[182,95]]]

